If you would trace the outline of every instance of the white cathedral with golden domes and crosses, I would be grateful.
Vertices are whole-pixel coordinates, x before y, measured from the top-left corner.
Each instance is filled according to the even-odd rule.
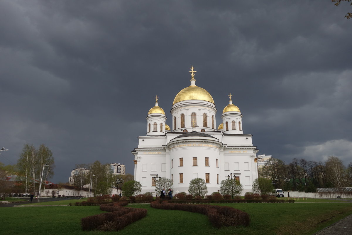
[[[160,193],[155,192],[156,175],[172,179],[174,193],[188,193],[190,180],[197,177],[205,180],[208,194],[219,192],[221,180],[232,173],[244,186],[244,195],[258,178],[258,149],[252,135],[243,133],[243,115],[232,104],[231,93],[216,129],[214,100],[196,86],[195,72],[192,66],[190,86],[178,92],[172,104],[172,131],[158,106],[158,96],[148,112],[147,133],[138,137],[138,147],[132,151],[134,180],[142,184],[141,193]]]

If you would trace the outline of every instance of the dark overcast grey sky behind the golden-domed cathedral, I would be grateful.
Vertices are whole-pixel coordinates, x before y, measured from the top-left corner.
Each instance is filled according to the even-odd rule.
[[[352,7],[297,1],[0,1],[0,161],[25,143],[54,153],[52,181],[79,163],[133,174],[137,136],[158,95],[228,93],[258,154],[347,165],[352,156]]]

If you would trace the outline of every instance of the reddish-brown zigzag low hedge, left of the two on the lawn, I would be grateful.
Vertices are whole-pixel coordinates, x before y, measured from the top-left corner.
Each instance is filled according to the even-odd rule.
[[[127,204],[128,202],[116,202],[100,205],[100,210],[110,213],[82,218],[82,230],[118,231],[147,215],[146,209],[122,207]]]

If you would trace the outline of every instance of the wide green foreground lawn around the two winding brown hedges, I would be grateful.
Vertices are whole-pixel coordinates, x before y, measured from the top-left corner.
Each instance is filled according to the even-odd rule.
[[[65,201],[67,202],[67,201]],[[145,218],[118,232],[83,232],[80,218],[99,214],[99,206],[44,206],[0,208],[0,234],[314,234],[352,214],[352,203],[216,204],[250,214],[249,227],[213,228],[207,216],[186,211],[158,210],[149,204]]]

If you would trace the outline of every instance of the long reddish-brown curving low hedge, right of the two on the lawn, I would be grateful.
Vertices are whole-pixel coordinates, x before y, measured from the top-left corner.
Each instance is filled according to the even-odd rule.
[[[248,226],[251,222],[249,214],[229,206],[178,204],[164,200],[152,202],[150,206],[156,209],[183,210],[207,215],[215,228],[220,228],[222,225]]]

